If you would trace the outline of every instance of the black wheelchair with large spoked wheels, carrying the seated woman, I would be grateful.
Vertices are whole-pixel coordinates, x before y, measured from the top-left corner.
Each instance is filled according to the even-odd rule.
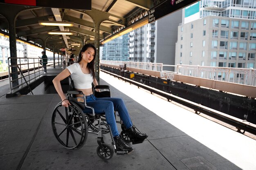
[[[74,90],[74,82],[71,76],[68,77],[68,80],[70,87],[66,96],[71,105],[67,108],[62,106],[62,102],[59,102],[52,114],[52,130],[58,143],[68,150],[78,150],[85,144],[88,132],[92,132],[98,134],[97,143],[99,146],[97,147],[97,155],[101,159],[111,159],[114,151],[117,155],[127,155],[128,151],[117,150],[110,126],[106,123],[105,113],[95,114],[94,109],[86,105],[85,95],[82,91]],[[100,92],[96,91],[96,89],[100,89]],[[95,86],[93,91],[95,97],[111,97],[108,85]],[[81,101],[78,101],[75,95],[83,95],[83,97],[79,97]],[[83,110],[85,109],[88,112],[84,113]],[[118,115],[115,113],[115,116],[117,117]],[[121,119],[116,122],[121,124],[121,136],[124,141],[130,142]],[[114,150],[112,146],[103,141],[102,135],[107,133],[110,133]]]

